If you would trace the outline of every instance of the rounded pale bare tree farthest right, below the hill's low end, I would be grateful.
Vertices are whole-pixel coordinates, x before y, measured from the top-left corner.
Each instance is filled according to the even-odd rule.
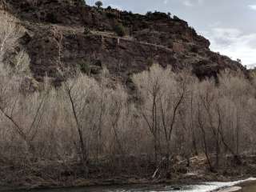
[[[255,90],[242,73],[231,74],[226,71],[219,75],[219,90],[222,93],[221,112],[222,124],[222,142],[226,149],[234,156],[237,163],[241,163],[239,158],[239,148],[242,144],[243,137],[250,132],[250,104],[253,102],[251,95],[254,95]],[[246,130],[246,131],[242,131]],[[226,136],[225,136],[226,133]],[[232,136],[227,137],[227,136]],[[234,141],[228,142],[227,140]]]

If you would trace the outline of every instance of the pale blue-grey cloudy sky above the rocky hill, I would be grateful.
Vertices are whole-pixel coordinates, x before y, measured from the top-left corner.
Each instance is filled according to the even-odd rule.
[[[88,4],[96,0],[87,0]],[[145,14],[170,12],[210,39],[210,49],[256,66],[256,0],[102,0],[104,6]]]

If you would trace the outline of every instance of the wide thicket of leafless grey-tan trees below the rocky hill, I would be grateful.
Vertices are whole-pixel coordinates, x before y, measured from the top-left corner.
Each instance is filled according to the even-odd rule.
[[[9,19],[9,21],[8,21]],[[227,161],[241,163],[254,153],[256,99],[254,82],[226,71],[201,82],[187,71],[153,65],[135,74],[136,97],[110,81],[79,71],[58,88],[42,83],[38,91],[20,89],[30,77],[26,52],[15,52],[14,66],[4,64],[22,30],[10,18],[0,25],[0,154],[6,162],[80,162],[86,175],[105,163],[121,171],[154,170],[204,154],[214,171]],[[144,166],[142,166],[140,163]],[[134,166],[136,165],[136,166]],[[140,170],[141,171],[141,170]]]

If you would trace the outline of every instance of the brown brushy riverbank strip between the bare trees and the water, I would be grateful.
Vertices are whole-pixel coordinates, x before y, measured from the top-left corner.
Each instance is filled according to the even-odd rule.
[[[171,167],[171,178],[166,179],[164,174],[158,173],[153,178],[155,170],[145,163],[138,169],[137,166],[122,166],[114,169],[113,166],[91,165],[89,176],[77,162],[36,162],[16,165],[1,164],[0,186],[6,190],[30,190],[74,186],[115,186],[115,185],[155,185],[155,184],[198,184],[201,182],[232,182],[256,175],[255,157],[242,158],[241,165],[225,164],[210,172],[206,159],[203,157],[190,158],[190,166],[179,161]],[[138,163],[138,162],[137,162]],[[116,166],[116,165],[115,165]],[[235,167],[235,168],[234,168]],[[144,171],[142,171],[144,170]]]

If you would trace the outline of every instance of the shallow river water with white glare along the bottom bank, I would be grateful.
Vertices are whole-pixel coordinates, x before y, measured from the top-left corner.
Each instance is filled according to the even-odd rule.
[[[95,186],[84,188],[66,188],[55,190],[30,190],[30,192],[210,192],[228,186],[239,185],[242,182],[255,181],[256,178],[248,178],[237,182],[203,182],[199,185],[188,186]],[[19,190],[18,192],[26,190]],[[256,186],[246,186],[243,192],[256,192]],[[17,191],[16,191],[17,192]]]

